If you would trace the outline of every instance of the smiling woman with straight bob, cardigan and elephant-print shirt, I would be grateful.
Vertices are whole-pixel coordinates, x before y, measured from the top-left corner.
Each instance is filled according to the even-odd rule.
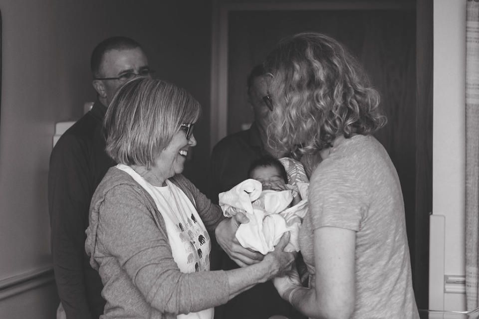
[[[222,217],[181,172],[200,116],[185,90],[136,78],[105,116],[108,170],[93,195],[86,251],[101,276],[102,318],[213,319],[213,307],[289,270],[287,236],[257,264],[210,272],[207,230]]]

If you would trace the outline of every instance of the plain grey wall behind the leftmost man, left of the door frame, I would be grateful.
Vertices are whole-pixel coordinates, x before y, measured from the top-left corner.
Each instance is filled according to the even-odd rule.
[[[94,101],[89,58],[102,39],[113,35],[136,39],[157,77],[185,87],[203,105],[195,130],[198,146],[186,173],[199,186],[206,180],[211,4],[209,0],[0,0],[0,10],[1,283],[51,263],[46,186],[54,124],[78,119],[83,103]],[[0,314],[5,307],[10,306],[0,303]],[[35,315],[18,318],[41,318],[36,309],[32,311]]]

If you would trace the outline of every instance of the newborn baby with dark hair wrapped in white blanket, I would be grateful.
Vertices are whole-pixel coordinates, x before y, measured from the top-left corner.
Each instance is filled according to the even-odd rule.
[[[287,163],[293,161],[287,160]],[[266,254],[274,250],[282,234],[289,231],[285,251],[299,251],[297,236],[306,214],[309,184],[296,180],[288,184],[283,164],[271,157],[254,161],[248,176],[249,179],[219,195],[225,216],[231,217],[241,211],[249,218],[249,222],[241,224],[237,230],[240,244]]]

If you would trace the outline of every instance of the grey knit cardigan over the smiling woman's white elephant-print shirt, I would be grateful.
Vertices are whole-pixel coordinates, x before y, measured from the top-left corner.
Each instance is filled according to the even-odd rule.
[[[224,218],[192,182],[170,180],[194,203],[213,230]],[[166,226],[153,198],[126,172],[111,167],[96,189],[85,249],[100,273],[106,318],[176,318],[228,301],[224,271],[185,274],[173,260]]]

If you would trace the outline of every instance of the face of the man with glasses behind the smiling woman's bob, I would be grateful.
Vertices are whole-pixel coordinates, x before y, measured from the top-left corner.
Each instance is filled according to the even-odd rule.
[[[148,59],[141,48],[110,50],[103,55],[99,78],[113,78],[125,73],[140,74],[148,70]],[[100,101],[108,107],[116,91],[124,84],[120,80],[98,80],[104,86]]]

